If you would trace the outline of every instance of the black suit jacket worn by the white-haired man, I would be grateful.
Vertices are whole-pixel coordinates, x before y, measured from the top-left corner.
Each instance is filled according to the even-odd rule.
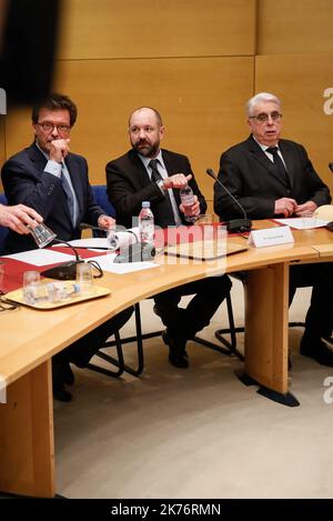
[[[219,179],[250,219],[273,218],[275,200],[283,197],[295,199],[299,204],[312,200],[319,207],[331,201],[329,188],[315,172],[304,147],[284,139],[279,141],[279,147],[290,184],[278,176],[274,164],[251,136],[221,156]],[[214,211],[221,220],[243,217],[241,209],[218,183],[214,186]]]

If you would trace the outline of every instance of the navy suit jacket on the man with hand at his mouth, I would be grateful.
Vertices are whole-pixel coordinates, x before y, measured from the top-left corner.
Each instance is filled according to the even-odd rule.
[[[79,216],[75,227],[70,218],[65,193],[60,179],[44,172],[47,159],[32,144],[10,158],[2,167],[1,178],[8,204],[23,203],[42,216],[44,222],[64,241],[81,236],[79,224],[82,221],[97,224],[98,218],[105,213],[95,204],[88,180],[88,166],[84,158],[69,153],[65,164],[79,202]],[[9,231],[6,251],[18,252],[34,249],[31,236],[20,236]]]

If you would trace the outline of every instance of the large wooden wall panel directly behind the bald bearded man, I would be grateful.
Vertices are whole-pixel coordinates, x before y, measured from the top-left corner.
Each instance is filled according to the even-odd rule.
[[[151,106],[164,119],[163,146],[190,157],[212,199],[205,169],[218,170],[221,152],[246,136],[252,84],[253,58],[243,57],[64,61],[57,87],[78,103],[71,148],[88,158],[93,184],[104,183],[105,163],[130,148],[130,113]]]

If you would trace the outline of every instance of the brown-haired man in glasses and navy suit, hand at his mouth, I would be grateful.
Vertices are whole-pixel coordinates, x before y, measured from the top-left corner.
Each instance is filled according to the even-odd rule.
[[[84,158],[69,151],[70,131],[77,119],[77,107],[65,96],[50,94],[32,109],[36,141],[3,166],[1,177],[9,204],[24,203],[40,213],[59,239],[80,237],[82,221],[108,229],[114,220],[95,204]],[[8,253],[34,249],[31,236],[9,231]],[[52,359],[53,394],[70,401],[64,383],[73,383],[69,362],[85,367],[114,330],[132,314],[124,310],[104,324],[75,341]]]

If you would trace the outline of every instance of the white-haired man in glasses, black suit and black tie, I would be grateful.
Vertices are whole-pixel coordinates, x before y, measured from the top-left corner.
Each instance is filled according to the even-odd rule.
[[[281,119],[281,102],[275,96],[254,96],[248,102],[251,136],[221,156],[219,179],[250,219],[302,216],[331,201],[329,188],[315,172],[304,147],[280,139]],[[214,210],[221,220],[243,217],[219,183],[214,186]],[[325,340],[333,325],[332,263],[292,267],[290,303],[296,288],[307,285],[313,291],[301,353],[333,367],[333,352]]]

